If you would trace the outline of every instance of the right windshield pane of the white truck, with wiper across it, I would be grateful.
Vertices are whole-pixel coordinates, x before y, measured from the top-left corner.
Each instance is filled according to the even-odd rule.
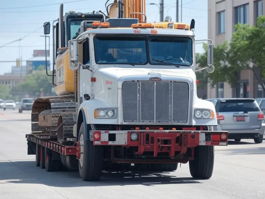
[[[180,66],[192,65],[192,40],[184,37],[149,37],[149,57],[151,64]],[[166,62],[161,62],[166,60]]]

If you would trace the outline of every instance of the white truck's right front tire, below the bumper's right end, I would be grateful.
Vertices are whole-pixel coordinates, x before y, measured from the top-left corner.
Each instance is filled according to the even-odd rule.
[[[214,146],[197,146],[194,160],[189,161],[189,172],[193,178],[209,179],[214,168]]]

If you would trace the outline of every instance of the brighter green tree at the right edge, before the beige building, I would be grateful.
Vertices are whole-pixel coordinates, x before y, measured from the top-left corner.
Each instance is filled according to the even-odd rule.
[[[235,71],[251,70],[265,91],[265,16],[253,27],[235,25],[229,50],[229,64]]]

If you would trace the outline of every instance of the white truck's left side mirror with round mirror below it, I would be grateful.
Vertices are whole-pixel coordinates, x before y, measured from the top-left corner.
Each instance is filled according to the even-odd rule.
[[[69,68],[71,70],[77,70],[79,68],[79,61],[78,61],[78,40],[69,40],[68,42],[69,46]]]

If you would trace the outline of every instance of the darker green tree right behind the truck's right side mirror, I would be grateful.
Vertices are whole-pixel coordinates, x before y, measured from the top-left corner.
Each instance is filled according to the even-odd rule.
[[[208,62],[208,45],[204,44],[203,48],[204,48],[204,53],[198,54],[196,56],[196,63],[199,64],[199,68],[206,67]],[[203,75],[198,72],[196,73],[197,79],[199,81],[203,81],[205,84],[207,83],[207,80],[209,78],[211,86],[214,86],[220,81],[228,81],[230,83],[233,83],[235,79],[235,76],[233,74],[234,70],[232,67],[229,67],[228,55],[229,51],[228,51],[227,42],[224,42],[223,44],[214,47],[213,65],[215,67],[215,71],[210,74],[204,72],[202,73]]]

